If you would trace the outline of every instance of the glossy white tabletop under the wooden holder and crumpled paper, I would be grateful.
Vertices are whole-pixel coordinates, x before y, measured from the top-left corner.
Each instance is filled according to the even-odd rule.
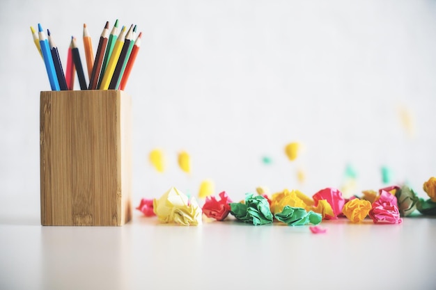
[[[0,289],[436,289],[435,218],[309,227],[0,220]]]

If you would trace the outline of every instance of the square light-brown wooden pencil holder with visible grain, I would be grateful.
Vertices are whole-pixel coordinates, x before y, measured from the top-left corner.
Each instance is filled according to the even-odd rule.
[[[40,93],[42,225],[132,218],[131,110],[122,90]]]

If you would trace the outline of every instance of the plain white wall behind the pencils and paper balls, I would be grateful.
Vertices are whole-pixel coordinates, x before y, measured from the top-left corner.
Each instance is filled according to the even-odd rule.
[[[65,66],[71,35],[84,61],[84,23],[96,50],[117,18],[143,32],[126,88],[134,202],[170,186],[196,194],[205,178],[234,199],[259,185],[312,195],[341,187],[346,163],[356,193],[380,188],[387,165],[425,196],[436,174],[435,12],[429,0],[1,0],[0,215],[39,214],[39,93],[49,81],[29,26],[50,29]],[[398,107],[414,116],[413,138]],[[294,140],[306,151],[291,163],[283,147]],[[164,174],[148,163],[154,147],[166,152]],[[189,177],[179,150],[192,155]]]

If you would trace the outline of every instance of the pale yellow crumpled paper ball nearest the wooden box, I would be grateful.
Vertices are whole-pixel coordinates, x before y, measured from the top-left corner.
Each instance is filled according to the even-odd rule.
[[[187,196],[171,187],[159,200],[153,200],[153,210],[161,223],[201,225],[202,211],[194,197]]]

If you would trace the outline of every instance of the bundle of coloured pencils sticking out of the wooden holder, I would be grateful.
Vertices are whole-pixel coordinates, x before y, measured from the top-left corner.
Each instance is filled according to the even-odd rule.
[[[132,24],[129,29],[123,26],[118,34],[117,19],[110,33],[109,22],[104,25],[97,53],[94,55],[91,36],[88,27],[84,24],[83,42],[89,79],[87,84],[77,39],[74,36],[68,48],[67,67],[64,73],[52,33],[47,29],[47,37],[41,24],[38,24],[38,33],[32,26],[30,29],[33,42],[45,63],[52,90],[73,90],[76,73],[81,90],[124,90],[141,47],[142,33],[136,36],[137,26]]]

